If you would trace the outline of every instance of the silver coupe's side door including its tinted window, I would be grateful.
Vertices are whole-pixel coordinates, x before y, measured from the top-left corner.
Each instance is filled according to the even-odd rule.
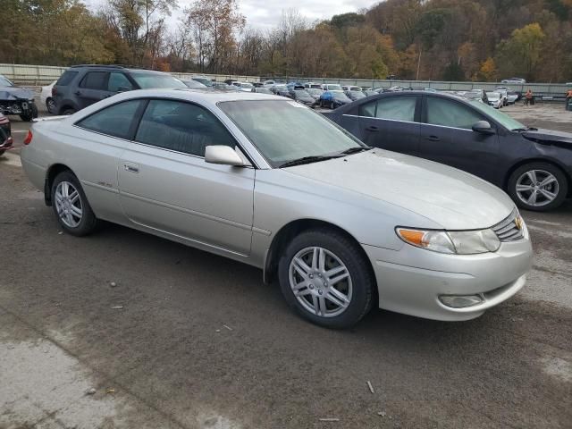
[[[255,170],[207,164],[211,145],[236,148],[236,141],[205,107],[150,100],[119,164],[123,211],[150,231],[248,255]]]

